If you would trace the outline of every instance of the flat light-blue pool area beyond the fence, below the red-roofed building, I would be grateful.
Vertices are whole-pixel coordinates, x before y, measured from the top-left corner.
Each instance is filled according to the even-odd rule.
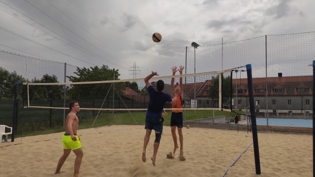
[[[244,124],[247,124],[245,122]],[[256,118],[257,125],[267,125],[267,118]],[[313,127],[313,119],[303,118],[268,118],[269,126]]]

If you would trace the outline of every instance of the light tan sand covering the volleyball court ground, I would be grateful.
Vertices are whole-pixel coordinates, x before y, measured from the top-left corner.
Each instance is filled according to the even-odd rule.
[[[154,132],[141,160],[144,125],[113,125],[78,130],[83,146],[81,177],[221,177],[252,143],[247,131],[183,128],[184,157],[166,158],[173,151],[169,126],[164,126],[156,167],[152,165]],[[0,144],[1,177],[72,177],[71,152],[61,174],[54,175],[63,153],[62,133],[16,138]],[[22,141],[22,142],[21,142]],[[22,144],[21,144],[22,143]],[[256,175],[253,144],[224,177],[312,177],[313,144],[310,134],[258,132],[261,175]]]

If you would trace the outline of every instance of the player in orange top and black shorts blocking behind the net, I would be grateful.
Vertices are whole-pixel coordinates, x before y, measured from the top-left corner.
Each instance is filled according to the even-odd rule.
[[[184,66],[180,66],[179,69],[177,69],[177,67],[172,67],[172,71],[173,71],[173,75],[175,75],[175,73],[177,71],[179,71],[179,74],[182,75],[183,74],[183,70],[184,70]],[[171,79],[171,86],[174,86],[174,78]],[[176,83],[176,88],[183,88],[183,78],[180,77],[179,79],[179,84]],[[177,135],[176,135],[176,127],[177,127],[177,131],[178,131],[178,137],[179,137],[179,143],[180,143],[180,153],[179,155],[182,156],[181,159],[185,159],[183,158],[184,155],[184,137],[183,137],[183,105],[182,105],[182,96],[180,94],[180,92],[173,93],[173,97],[177,97],[177,101],[176,104],[172,105],[172,108],[179,108],[178,110],[172,110],[172,115],[171,115],[171,132],[172,132],[172,137],[173,137],[173,141],[174,141],[174,150],[173,150],[173,156],[175,155],[176,149],[178,148],[178,144],[177,144]]]

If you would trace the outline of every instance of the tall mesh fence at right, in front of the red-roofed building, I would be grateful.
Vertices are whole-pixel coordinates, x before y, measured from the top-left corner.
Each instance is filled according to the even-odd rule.
[[[234,68],[233,109],[249,111],[247,74],[252,64],[256,116],[260,125],[312,127],[315,32],[266,35],[188,47],[187,73]],[[296,120],[295,120],[296,119]]]

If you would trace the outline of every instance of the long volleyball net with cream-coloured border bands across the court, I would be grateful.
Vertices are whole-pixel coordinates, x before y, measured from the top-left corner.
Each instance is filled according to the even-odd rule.
[[[203,72],[153,77],[153,87],[164,81],[163,92],[172,95],[182,78],[183,110],[230,110],[231,71]],[[171,81],[174,79],[174,84]],[[91,81],[73,83],[23,83],[24,108],[69,109],[68,103],[79,101],[81,110],[145,111],[149,95],[144,79]],[[165,110],[172,110],[169,103]]]

